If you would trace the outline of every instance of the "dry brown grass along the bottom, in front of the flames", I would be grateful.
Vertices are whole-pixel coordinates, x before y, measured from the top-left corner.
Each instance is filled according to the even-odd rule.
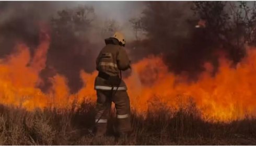
[[[76,105],[74,104],[73,107]],[[45,108],[26,111],[0,106],[0,145],[91,145],[88,131],[94,125],[95,103],[79,108]],[[132,112],[133,134],[127,141],[115,142],[115,118],[111,114],[108,135],[99,145],[254,145],[256,119],[207,123],[192,108],[176,113],[161,107],[146,116]],[[197,114],[196,114],[197,113]]]

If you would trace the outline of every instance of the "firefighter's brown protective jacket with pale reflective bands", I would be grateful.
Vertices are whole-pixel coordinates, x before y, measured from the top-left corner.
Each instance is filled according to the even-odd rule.
[[[105,43],[106,46],[102,48],[96,59],[96,69],[99,75],[95,79],[95,90],[111,90],[112,87],[113,90],[127,90],[123,80],[120,80],[119,87],[106,83],[109,77],[119,77],[120,70],[129,69],[130,60],[117,39],[109,38],[105,40]]]

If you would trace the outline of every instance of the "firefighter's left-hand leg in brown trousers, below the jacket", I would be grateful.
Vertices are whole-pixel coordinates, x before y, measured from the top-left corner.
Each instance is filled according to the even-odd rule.
[[[107,121],[111,108],[111,100],[109,98],[110,91],[97,90],[96,117],[95,128],[96,137],[103,136],[107,131]]]

